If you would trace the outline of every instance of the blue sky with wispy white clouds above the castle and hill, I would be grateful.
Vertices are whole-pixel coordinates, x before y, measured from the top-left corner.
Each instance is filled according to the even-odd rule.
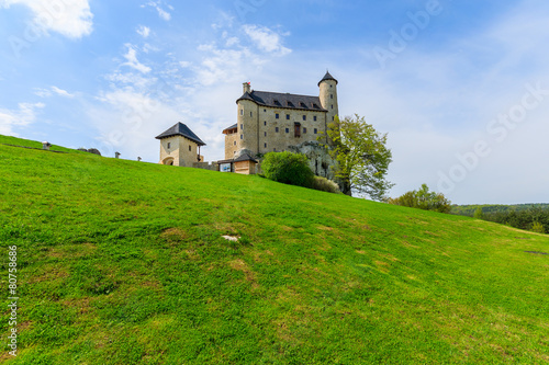
[[[243,82],[388,134],[391,196],[549,202],[545,0],[0,0],[0,134],[157,163],[187,124],[224,158]]]

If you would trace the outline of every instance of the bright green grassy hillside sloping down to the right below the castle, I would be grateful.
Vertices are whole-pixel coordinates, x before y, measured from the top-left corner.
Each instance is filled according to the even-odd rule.
[[[65,151],[0,145],[2,363],[549,362],[548,236]]]

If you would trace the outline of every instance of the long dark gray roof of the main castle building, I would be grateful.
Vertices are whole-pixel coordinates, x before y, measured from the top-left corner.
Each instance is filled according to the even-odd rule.
[[[236,102],[238,103],[240,100],[249,100],[260,106],[327,112],[327,110],[322,107],[318,96],[254,90],[250,93],[245,92]]]

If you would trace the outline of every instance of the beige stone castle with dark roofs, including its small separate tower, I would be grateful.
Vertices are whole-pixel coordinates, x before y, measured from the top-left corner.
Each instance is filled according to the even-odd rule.
[[[251,90],[243,84],[236,101],[237,123],[223,130],[225,160],[203,162],[200,147],[205,144],[184,124],[178,123],[157,136],[160,163],[205,168],[237,173],[256,173],[257,159],[267,152],[305,153],[315,174],[333,179],[333,160],[317,139],[327,138],[328,124],[339,114],[337,80],[326,72],[318,82],[318,96]]]

